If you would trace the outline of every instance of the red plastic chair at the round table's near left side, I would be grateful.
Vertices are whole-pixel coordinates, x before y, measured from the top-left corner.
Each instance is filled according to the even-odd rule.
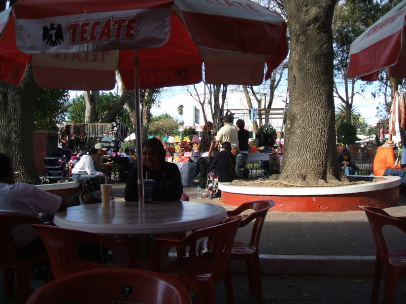
[[[108,267],[105,264],[80,259],[78,247],[83,242],[98,242],[112,250],[113,253],[115,250],[126,248],[128,267],[138,267],[137,246],[136,241],[133,239],[117,240],[108,235],[42,224],[34,224],[33,226],[36,227],[47,249],[50,266],[49,280],[58,279],[80,271]]]

